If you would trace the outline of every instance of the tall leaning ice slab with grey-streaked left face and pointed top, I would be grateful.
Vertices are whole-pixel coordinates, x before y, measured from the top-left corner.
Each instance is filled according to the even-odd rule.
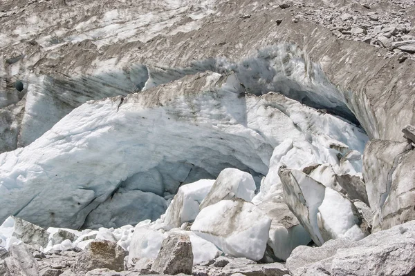
[[[324,238],[320,234],[317,213],[323,202],[326,188],[299,170],[281,167],[278,174],[284,186],[286,204],[315,244],[321,246],[324,244]]]

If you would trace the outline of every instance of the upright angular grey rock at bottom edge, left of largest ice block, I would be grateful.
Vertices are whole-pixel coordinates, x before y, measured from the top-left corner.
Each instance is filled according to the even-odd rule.
[[[187,235],[169,235],[163,240],[160,252],[151,269],[161,273],[192,275],[193,253],[190,237]]]

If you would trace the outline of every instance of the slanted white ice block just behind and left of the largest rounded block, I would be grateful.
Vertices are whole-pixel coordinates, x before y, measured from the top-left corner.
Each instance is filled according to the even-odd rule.
[[[199,214],[199,204],[208,195],[214,180],[201,179],[178,188],[172,203],[167,208],[165,224],[180,227],[184,222],[194,221]]]

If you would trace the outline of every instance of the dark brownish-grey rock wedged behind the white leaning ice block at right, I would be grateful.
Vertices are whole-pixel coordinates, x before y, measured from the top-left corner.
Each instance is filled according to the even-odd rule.
[[[359,199],[369,205],[365,182],[356,175],[335,175],[338,184],[344,189],[349,199]]]

